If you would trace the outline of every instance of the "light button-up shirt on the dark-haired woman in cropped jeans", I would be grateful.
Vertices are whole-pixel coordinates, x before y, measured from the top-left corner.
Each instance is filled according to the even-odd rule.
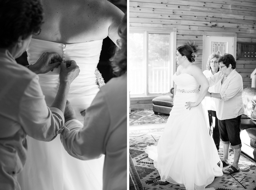
[[[223,78],[221,71],[208,78],[210,87],[214,85],[215,93],[221,96],[221,100],[216,99],[216,115],[219,120],[236,118],[244,112],[242,76],[234,69],[221,85]]]

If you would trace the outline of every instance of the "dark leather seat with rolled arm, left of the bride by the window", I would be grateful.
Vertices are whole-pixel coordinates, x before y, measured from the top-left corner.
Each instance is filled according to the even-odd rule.
[[[172,110],[172,107],[173,107],[173,90],[174,88],[172,87],[170,90],[172,95],[158,96],[152,100],[153,112],[156,115],[158,113],[164,113],[167,115],[170,114],[170,111]]]

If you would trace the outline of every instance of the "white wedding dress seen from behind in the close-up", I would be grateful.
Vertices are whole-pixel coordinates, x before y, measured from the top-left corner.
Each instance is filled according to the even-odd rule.
[[[87,109],[99,88],[95,69],[99,62],[102,40],[60,44],[32,39],[27,49],[29,64],[35,63],[43,52],[56,52],[65,60],[75,60],[79,76],[71,83],[68,100],[83,123],[80,111]],[[63,49],[65,48],[65,49]],[[64,56],[64,55],[65,56]],[[50,106],[59,87],[60,67],[39,75],[39,82]],[[23,171],[18,176],[22,190],[98,190],[102,189],[104,156],[81,161],[71,157],[63,148],[59,135],[51,142],[27,136],[28,153]],[[88,145],[90,146],[90,145]]]

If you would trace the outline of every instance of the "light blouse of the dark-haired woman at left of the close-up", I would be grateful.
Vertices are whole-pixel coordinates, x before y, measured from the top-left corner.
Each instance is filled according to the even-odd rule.
[[[17,182],[26,162],[29,135],[50,141],[64,127],[64,115],[48,108],[38,76],[0,49],[0,190],[20,190]]]

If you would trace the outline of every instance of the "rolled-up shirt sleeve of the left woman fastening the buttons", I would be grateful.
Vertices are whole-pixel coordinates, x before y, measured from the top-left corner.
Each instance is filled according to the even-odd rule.
[[[34,139],[51,141],[64,128],[64,115],[58,108],[47,107],[38,76],[24,91],[19,109],[20,124]]]

